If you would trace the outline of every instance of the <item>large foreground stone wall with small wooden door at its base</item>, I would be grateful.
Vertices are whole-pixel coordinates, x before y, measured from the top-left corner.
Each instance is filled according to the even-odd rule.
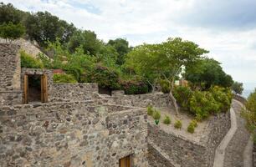
[[[1,166],[147,166],[146,111],[103,103],[1,107]]]

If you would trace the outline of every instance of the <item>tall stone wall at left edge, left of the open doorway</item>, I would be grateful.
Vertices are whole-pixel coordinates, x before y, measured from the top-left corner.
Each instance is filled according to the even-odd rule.
[[[0,43],[0,91],[20,89],[19,46]]]

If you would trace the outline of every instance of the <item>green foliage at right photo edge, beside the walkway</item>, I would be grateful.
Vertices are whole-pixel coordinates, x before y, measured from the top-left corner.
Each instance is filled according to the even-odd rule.
[[[247,120],[247,128],[253,134],[253,141],[256,144],[256,89],[248,96],[245,107],[242,115]]]

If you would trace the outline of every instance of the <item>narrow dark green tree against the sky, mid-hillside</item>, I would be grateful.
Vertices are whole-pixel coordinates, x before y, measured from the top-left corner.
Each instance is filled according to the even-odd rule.
[[[123,38],[116,38],[115,40],[110,40],[108,44],[113,46],[118,53],[116,63],[119,65],[125,63],[125,55],[131,50],[131,48],[129,48],[129,42]]]

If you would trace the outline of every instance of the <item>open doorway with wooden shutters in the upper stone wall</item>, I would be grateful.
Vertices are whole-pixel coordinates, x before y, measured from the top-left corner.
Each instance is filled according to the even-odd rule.
[[[24,75],[24,104],[48,101],[47,76]]]

